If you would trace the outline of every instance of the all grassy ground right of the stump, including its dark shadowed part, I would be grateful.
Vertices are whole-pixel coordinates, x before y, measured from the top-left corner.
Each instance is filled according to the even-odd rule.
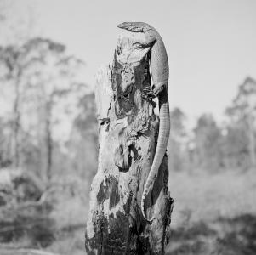
[[[256,254],[256,171],[172,173],[167,254]]]

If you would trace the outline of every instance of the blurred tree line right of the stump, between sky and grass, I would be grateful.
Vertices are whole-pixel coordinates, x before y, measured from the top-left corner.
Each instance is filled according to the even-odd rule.
[[[168,161],[171,170],[246,170],[256,166],[256,82],[247,77],[219,125],[211,114],[202,114],[193,130],[187,130],[185,113],[171,111]]]

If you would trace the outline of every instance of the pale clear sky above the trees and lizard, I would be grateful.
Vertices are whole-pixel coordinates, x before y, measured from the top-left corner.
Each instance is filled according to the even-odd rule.
[[[256,78],[255,0],[16,0],[14,15],[33,6],[40,36],[63,42],[88,66],[94,83],[113,56],[123,21],[155,26],[168,50],[169,98],[192,119],[217,119],[248,75]],[[126,4],[124,4],[126,3]],[[1,32],[1,31],[0,31]],[[1,36],[1,35],[0,35]]]

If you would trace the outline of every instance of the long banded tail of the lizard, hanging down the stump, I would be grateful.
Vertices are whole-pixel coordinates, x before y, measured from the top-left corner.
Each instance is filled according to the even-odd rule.
[[[145,215],[145,197],[149,194],[152,186],[157,177],[158,169],[162,163],[162,158],[165,154],[168,145],[168,138],[170,133],[170,113],[169,113],[169,103],[168,103],[168,94],[166,89],[164,89],[161,94],[158,96],[159,99],[159,133],[156,145],[156,154],[154,156],[154,160],[151,166],[151,171],[148,175],[148,178],[145,183],[145,188],[143,190],[142,198],[141,198],[141,211],[143,217],[148,221],[152,222],[154,217],[150,219]]]

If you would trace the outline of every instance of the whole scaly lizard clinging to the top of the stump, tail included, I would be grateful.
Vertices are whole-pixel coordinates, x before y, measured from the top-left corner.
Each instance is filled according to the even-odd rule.
[[[145,95],[150,98],[158,98],[159,101],[159,133],[156,144],[156,153],[151,165],[150,173],[145,182],[145,187],[141,198],[141,211],[143,217],[152,222],[154,217],[147,218],[145,215],[145,198],[151,191],[159,167],[162,163],[162,158],[165,155],[168,138],[170,133],[170,113],[168,103],[168,55],[162,42],[162,37],[154,27],[144,22],[123,22],[117,27],[132,32],[142,32],[145,34],[145,39],[138,39],[134,42],[134,46],[138,48],[151,48],[151,78],[153,85],[151,89],[145,90]]]

